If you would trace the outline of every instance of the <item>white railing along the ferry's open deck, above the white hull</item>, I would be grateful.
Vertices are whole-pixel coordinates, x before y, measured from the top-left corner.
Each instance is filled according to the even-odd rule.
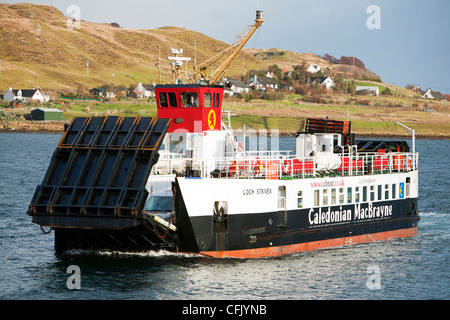
[[[315,157],[296,158],[289,154],[246,152],[245,156],[225,158],[185,158],[162,154],[152,174],[177,174],[201,178],[301,179],[316,176],[363,176],[417,170],[419,156],[412,153],[339,154],[340,165],[321,168]]]

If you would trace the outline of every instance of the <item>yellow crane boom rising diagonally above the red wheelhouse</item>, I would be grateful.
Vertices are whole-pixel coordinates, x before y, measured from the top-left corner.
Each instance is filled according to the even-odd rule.
[[[216,54],[214,57],[209,58],[205,62],[194,66],[191,73],[191,81],[197,83],[201,80],[207,81],[210,84],[219,84],[225,76],[231,62],[233,62],[234,58],[236,58],[238,53],[242,50],[263,22],[263,12],[257,10],[255,24],[245,27],[230,47]],[[207,74],[207,69],[212,65],[217,67]]]

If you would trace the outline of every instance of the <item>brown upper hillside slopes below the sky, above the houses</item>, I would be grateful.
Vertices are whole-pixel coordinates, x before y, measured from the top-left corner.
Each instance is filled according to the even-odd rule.
[[[229,44],[196,31],[179,27],[150,30],[123,29],[111,23],[81,21],[80,28],[69,28],[68,18],[54,7],[32,4],[0,4],[0,91],[8,87],[75,90],[102,84],[133,85],[170,79],[166,57],[171,48],[183,48],[184,55],[201,63]],[[246,23],[243,24],[243,28]],[[160,49],[160,51],[159,51]],[[159,56],[159,52],[161,55]],[[270,57],[264,53],[276,52]],[[335,75],[354,76],[369,70],[332,64],[311,53],[280,49],[245,49],[234,60],[228,77],[240,78],[249,70],[267,70],[277,64],[287,70],[303,61],[320,64]],[[89,69],[86,63],[89,62]],[[188,68],[193,66],[189,62]],[[89,73],[88,73],[89,71]]]

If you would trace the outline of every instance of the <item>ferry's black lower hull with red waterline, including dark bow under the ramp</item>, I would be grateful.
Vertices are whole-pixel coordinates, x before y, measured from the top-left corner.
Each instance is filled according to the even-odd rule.
[[[412,236],[417,233],[420,220],[418,199],[379,202],[377,206],[392,205],[392,214],[377,217],[374,213],[373,217],[359,219],[353,216],[347,217],[348,221],[332,222],[327,212],[353,212],[354,205],[323,208],[320,210],[323,223],[319,216],[318,224],[313,226],[310,225],[313,217],[310,209],[288,211],[285,217],[279,212],[231,215],[225,222],[217,222],[212,216],[189,218],[180,193],[177,204],[180,227],[176,233],[166,232],[154,221],[144,219],[120,229],[54,228],[55,248],[167,250],[214,257],[262,257]],[[361,204],[360,208],[368,206]]]

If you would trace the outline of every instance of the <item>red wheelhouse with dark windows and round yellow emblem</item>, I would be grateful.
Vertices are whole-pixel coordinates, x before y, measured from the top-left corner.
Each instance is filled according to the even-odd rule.
[[[168,133],[221,130],[223,87],[216,85],[158,85],[158,118],[170,118]]]

